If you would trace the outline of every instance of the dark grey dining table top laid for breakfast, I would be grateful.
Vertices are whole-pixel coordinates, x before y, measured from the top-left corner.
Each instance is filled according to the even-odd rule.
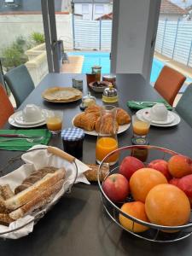
[[[27,96],[18,110],[26,104],[36,104],[41,108],[63,111],[62,129],[73,127],[73,117],[81,113],[81,100],[56,103],[45,101],[44,90],[55,87],[72,87],[72,79],[83,80],[83,95],[90,90],[85,74],[49,73]],[[158,101],[161,97],[148,84],[142,74],[117,74],[116,86],[119,102],[116,107],[125,109],[130,115],[135,113],[127,107],[127,101]],[[96,96],[96,103],[103,105],[102,94],[90,90]],[[46,128],[45,125],[42,126]],[[38,127],[39,128],[39,127]],[[9,122],[4,129],[17,129]],[[148,142],[150,145],[169,148],[180,154],[192,157],[192,129],[182,119],[178,125],[171,127],[150,127]],[[119,147],[131,145],[132,128],[118,135]],[[49,145],[63,149],[61,135],[52,136]],[[14,171],[20,166],[15,161],[7,165],[10,159],[20,154],[19,151],[0,150],[0,169],[7,166],[1,176]],[[96,136],[85,135],[82,161],[96,163]],[[0,255],[19,256],[189,256],[192,255],[192,236],[182,241],[160,243],[146,241],[121,229],[104,211],[100,190],[97,183],[77,183],[70,193],[40,219],[28,236],[17,240],[0,239]]]

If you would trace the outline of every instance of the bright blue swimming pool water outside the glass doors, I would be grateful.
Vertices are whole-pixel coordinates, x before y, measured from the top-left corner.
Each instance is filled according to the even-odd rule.
[[[70,52],[67,55],[84,55],[84,65],[82,67],[82,73],[90,73],[91,67],[99,65],[102,67],[102,73],[110,73],[110,60],[108,52]],[[153,60],[150,82],[154,83],[158,78],[164,63],[157,59]],[[192,82],[192,79],[187,79],[187,82]]]

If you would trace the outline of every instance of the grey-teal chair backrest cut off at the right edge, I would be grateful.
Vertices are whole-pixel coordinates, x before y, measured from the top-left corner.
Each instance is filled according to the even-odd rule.
[[[189,84],[176,106],[177,113],[192,127],[192,84]]]

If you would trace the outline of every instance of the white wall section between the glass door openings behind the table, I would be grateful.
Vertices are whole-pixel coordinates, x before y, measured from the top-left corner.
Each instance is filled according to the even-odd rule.
[[[143,73],[151,66],[151,47],[160,11],[160,0],[114,0],[112,73]]]

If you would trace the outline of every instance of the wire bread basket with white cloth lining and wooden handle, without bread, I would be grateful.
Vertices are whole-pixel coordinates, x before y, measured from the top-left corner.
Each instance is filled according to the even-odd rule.
[[[24,180],[29,174],[32,174],[32,172],[39,170],[41,165],[49,166],[50,164],[50,166],[55,166],[56,168],[64,167],[66,169],[66,178],[61,185],[61,189],[49,203],[44,205],[44,207],[36,209],[29,215],[24,216],[24,218],[15,220],[9,224],[9,227],[0,225],[0,237],[10,239],[17,239],[32,232],[33,225],[37,224],[38,220],[44,217],[44,214],[61,199],[62,195],[71,191],[73,184],[77,180],[78,174],[87,169],[87,166],[82,162],[75,159],[72,155],[63,152],[61,149],[43,145],[34,146],[25,154],[20,154],[14,159],[10,159],[8,165],[16,160],[22,160],[24,164],[14,172],[10,172],[8,175],[0,177],[0,184],[3,185],[9,183],[13,191],[15,187],[20,184],[21,180]],[[5,168],[7,168],[7,166],[3,169]]]

